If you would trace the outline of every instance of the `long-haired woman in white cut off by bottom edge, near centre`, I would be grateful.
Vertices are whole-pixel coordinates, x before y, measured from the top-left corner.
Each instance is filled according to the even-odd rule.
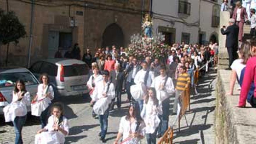
[[[145,123],[139,114],[139,109],[135,107],[134,104],[130,104],[128,114],[121,118],[114,144],[118,144],[121,137],[121,144],[138,144],[144,138]]]

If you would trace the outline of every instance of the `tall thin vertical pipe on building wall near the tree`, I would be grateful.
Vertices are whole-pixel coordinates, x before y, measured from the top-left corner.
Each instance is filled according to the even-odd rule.
[[[28,63],[27,67],[30,67],[31,61],[31,47],[33,42],[33,23],[34,23],[34,7],[35,7],[35,0],[31,0],[31,18],[30,18],[30,33],[29,33],[29,50],[28,50]]]

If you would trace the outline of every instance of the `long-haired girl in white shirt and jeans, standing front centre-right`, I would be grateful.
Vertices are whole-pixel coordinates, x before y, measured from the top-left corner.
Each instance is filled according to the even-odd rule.
[[[147,144],[156,143],[157,127],[161,121],[158,115],[162,115],[162,104],[159,104],[158,102],[155,88],[149,88],[141,111],[141,117],[146,125],[145,133]]]

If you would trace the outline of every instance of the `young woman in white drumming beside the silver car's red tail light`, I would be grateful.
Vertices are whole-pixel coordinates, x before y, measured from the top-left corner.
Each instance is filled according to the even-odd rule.
[[[39,78],[41,84],[38,85],[37,93],[32,103],[38,104],[38,113],[34,113],[33,104],[31,104],[31,114],[40,116],[41,127],[45,127],[49,117],[49,108],[51,101],[54,99],[53,87],[49,84],[49,77],[47,74],[42,74]]]

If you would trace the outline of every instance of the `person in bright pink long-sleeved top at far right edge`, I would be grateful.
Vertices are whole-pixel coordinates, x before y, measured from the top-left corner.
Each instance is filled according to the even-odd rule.
[[[250,40],[251,48],[250,52],[253,57],[251,57],[246,63],[246,69],[243,77],[243,84],[241,88],[241,93],[239,97],[239,107],[246,106],[246,99],[248,92],[250,90],[252,82],[256,86],[256,40]],[[256,105],[256,91],[254,89],[254,94],[251,99],[251,103]]]

